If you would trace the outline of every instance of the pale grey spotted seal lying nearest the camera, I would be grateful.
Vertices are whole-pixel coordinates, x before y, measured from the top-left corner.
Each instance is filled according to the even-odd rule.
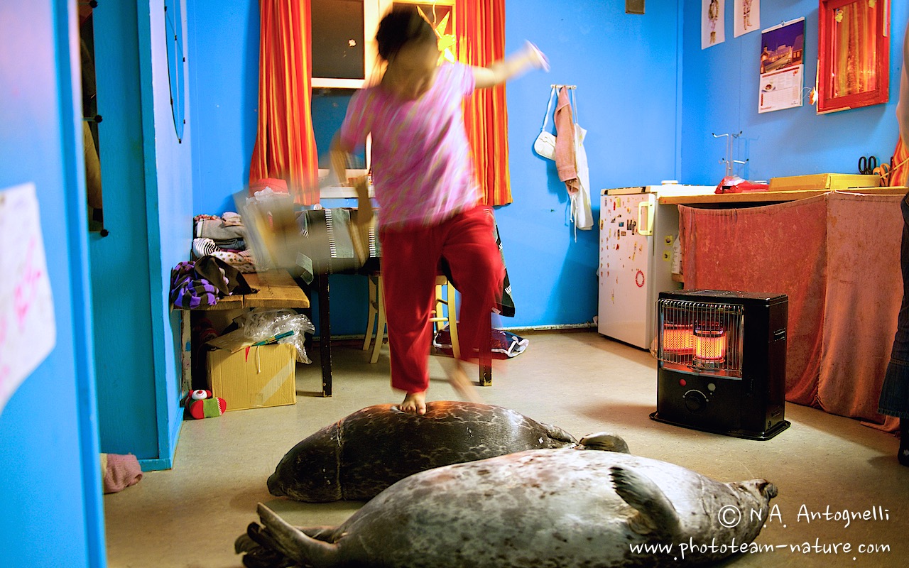
[[[264,527],[250,524],[236,549],[250,566],[675,566],[740,552],[775,496],[764,479],[719,483],[625,453],[530,450],[416,473],[337,527],[298,529],[260,503]]]

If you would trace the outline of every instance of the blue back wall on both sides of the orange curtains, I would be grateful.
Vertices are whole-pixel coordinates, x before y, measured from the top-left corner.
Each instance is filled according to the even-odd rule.
[[[245,185],[255,142],[258,7],[253,0],[200,0],[190,10],[194,212],[219,214],[233,208],[230,194]],[[625,15],[624,4],[606,0],[557,6],[507,0],[505,10],[506,51],[533,40],[553,71],[524,75],[507,87],[514,204],[496,215],[517,310],[496,324],[584,324],[596,312],[598,235],[578,232],[574,241],[564,184],[554,163],[533,153],[549,85],[578,85],[580,122],[589,131],[594,218],[599,189],[673,177],[678,7],[649,3],[646,15]],[[316,117],[317,130],[319,122]],[[331,280],[333,334],[362,334],[365,279]]]

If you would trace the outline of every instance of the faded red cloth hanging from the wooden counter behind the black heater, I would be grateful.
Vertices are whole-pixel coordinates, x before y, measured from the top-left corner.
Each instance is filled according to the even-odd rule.
[[[877,400],[902,291],[901,198],[679,206],[685,288],[787,294],[786,400],[892,431]]]

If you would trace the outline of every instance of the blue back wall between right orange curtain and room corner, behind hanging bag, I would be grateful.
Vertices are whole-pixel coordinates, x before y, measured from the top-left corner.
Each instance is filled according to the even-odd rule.
[[[506,87],[514,203],[499,207],[496,219],[516,313],[502,326],[582,324],[597,309],[598,231],[578,231],[574,242],[564,184],[532,147],[550,85],[577,85],[599,219],[601,189],[674,176],[677,30],[675,2],[649,2],[646,15],[626,15],[624,3],[606,0],[505,2],[505,52],[531,40],[552,71]]]

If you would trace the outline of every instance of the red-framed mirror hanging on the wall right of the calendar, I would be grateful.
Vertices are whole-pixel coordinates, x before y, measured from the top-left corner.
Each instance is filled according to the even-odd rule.
[[[818,114],[886,103],[889,0],[820,0],[817,53]]]

